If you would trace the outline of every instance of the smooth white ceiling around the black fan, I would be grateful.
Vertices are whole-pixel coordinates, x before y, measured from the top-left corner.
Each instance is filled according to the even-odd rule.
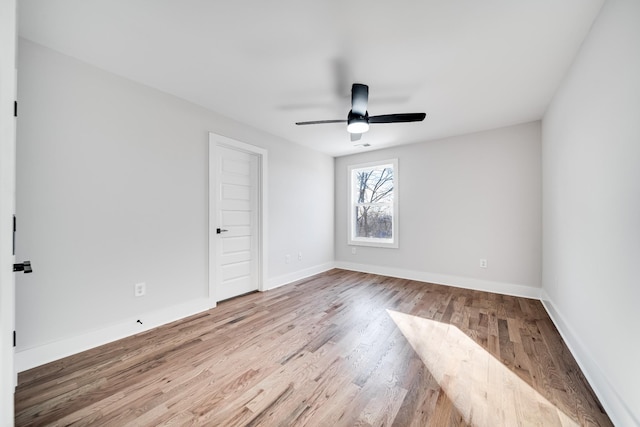
[[[334,155],[538,120],[604,0],[20,0],[26,39]],[[342,71],[340,71],[342,70]],[[353,147],[353,82],[375,124]],[[338,90],[338,87],[340,89]]]

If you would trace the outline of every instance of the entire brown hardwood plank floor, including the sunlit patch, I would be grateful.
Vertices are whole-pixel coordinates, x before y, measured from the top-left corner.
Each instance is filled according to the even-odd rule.
[[[19,375],[16,425],[611,425],[539,301],[332,270]]]

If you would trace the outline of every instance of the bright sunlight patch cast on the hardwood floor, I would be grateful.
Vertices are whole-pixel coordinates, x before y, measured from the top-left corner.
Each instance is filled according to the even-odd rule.
[[[387,312],[467,423],[578,426],[456,326]]]

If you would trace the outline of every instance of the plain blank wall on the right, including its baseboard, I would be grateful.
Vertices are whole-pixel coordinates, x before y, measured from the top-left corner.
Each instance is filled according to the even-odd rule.
[[[609,0],[543,120],[544,299],[616,425],[640,425],[640,2]]]

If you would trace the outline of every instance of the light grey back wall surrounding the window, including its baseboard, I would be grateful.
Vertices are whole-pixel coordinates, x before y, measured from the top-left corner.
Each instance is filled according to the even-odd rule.
[[[347,166],[390,158],[399,161],[400,247],[357,247],[354,255],[347,245]],[[539,122],[341,157],[335,168],[338,265],[538,296]],[[488,268],[479,267],[481,258]]]

